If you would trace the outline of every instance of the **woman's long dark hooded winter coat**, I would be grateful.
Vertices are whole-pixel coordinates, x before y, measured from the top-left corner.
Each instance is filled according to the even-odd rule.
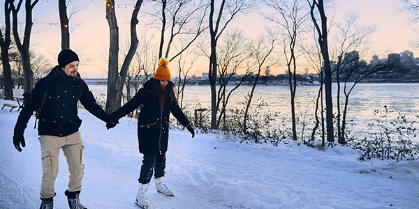
[[[185,127],[190,125],[179,105],[176,102],[171,104],[169,98],[164,101],[163,109],[159,108],[154,82],[159,80],[150,79],[129,102],[112,113],[112,118],[119,119],[138,107],[141,108],[138,116],[138,146],[140,153],[144,154],[161,154],[168,150],[170,112]],[[172,91],[172,83],[167,88]]]

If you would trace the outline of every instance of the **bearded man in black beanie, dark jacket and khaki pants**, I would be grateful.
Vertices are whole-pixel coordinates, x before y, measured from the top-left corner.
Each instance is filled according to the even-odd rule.
[[[84,146],[79,132],[82,120],[78,118],[77,102],[80,100],[87,111],[102,121],[106,121],[108,114],[96,103],[87,84],[80,78],[78,68],[78,55],[71,49],[62,50],[58,55],[58,65],[36,83],[15,125],[13,144],[20,152],[20,145],[25,146],[24,129],[36,111],[43,173],[41,209],[53,207],[60,149],[66,156],[70,171],[68,189],[64,192],[68,205],[71,209],[85,208],[79,199],[84,174]]]

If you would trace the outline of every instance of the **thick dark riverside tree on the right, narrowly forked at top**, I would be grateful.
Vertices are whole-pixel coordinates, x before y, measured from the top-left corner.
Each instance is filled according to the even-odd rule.
[[[307,0],[311,8],[310,15],[318,33],[318,44],[323,56],[323,68],[325,77],[325,100],[326,100],[326,133],[328,142],[334,142],[333,135],[333,104],[332,104],[332,70],[330,68],[328,48],[328,18],[325,15],[323,0]],[[320,15],[321,25],[318,24],[316,14]]]

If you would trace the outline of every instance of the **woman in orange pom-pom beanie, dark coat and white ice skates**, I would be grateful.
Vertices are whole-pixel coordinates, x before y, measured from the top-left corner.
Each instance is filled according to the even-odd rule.
[[[170,71],[167,65],[168,61],[161,59],[154,77],[145,82],[129,102],[113,112],[106,124],[108,129],[115,127],[119,118],[141,108],[138,116],[138,146],[140,153],[143,154],[143,160],[140,178],[138,178],[140,188],[135,203],[142,208],[149,206],[147,189],[153,176],[153,170],[157,191],[167,196],[173,196],[172,191],[163,183],[170,112],[191,132],[192,137],[195,136],[191,123],[177,102],[173,91],[174,84],[170,81]]]

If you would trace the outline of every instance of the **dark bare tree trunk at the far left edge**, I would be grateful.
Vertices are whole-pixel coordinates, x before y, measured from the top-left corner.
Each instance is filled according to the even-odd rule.
[[[8,52],[10,49],[10,0],[4,1],[4,33],[0,29],[0,47],[1,47],[1,65],[3,65],[3,84],[4,84],[4,98],[6,100],[13,100],[13,79],[12,69],[10,68],[10,61]]]

